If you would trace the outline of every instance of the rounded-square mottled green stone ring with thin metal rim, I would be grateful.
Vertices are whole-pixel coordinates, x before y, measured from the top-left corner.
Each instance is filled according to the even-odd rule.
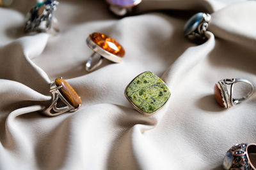
[[[145,113],[152,113],[161,108],[171,94],[164,81],[150,71],[134,78],[125,93],[130,101]]]

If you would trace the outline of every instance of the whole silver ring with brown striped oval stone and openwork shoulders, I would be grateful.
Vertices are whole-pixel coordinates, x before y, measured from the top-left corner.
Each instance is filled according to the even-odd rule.
[[[81,97],[63,78],[56,78],[50,83],[50,92],[52,103],[42,111],[47,116],[54,117],[67,111],[77,111],[81,107]]]

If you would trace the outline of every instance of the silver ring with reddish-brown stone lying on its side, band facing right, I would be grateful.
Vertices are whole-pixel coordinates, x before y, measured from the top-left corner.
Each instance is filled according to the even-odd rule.
[[[250,85],[250,92],[248,92],[246,96],[241,98],[233,97],[234,85],[238,82],[244,82]],[[220,106],[223,108],[231,108],[232,106],[235,106],[236,104],[243,102],[244,100],[252,96],[253,92],[253,84],[249,80],[246,80],[244,78],[227,78],[218,81],[214,85],[214,96],[218,104],[220,104]]]

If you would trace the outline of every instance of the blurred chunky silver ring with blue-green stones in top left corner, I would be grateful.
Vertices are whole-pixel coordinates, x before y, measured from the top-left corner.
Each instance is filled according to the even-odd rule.
[[[37,3],[28,13],[24,32],[47,32],[56,35],[60,29],[58,20],[53,17],[58,1],[45,0]]]

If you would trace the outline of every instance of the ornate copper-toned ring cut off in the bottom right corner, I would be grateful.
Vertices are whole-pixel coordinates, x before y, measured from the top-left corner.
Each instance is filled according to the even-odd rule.
[[[241,143],[232,146],[223,160],[224,169],[230,170],[255,170],[255,162],[250,157],[255,156],[256,144]],[[254,164],[254,165],[253,165]]]

